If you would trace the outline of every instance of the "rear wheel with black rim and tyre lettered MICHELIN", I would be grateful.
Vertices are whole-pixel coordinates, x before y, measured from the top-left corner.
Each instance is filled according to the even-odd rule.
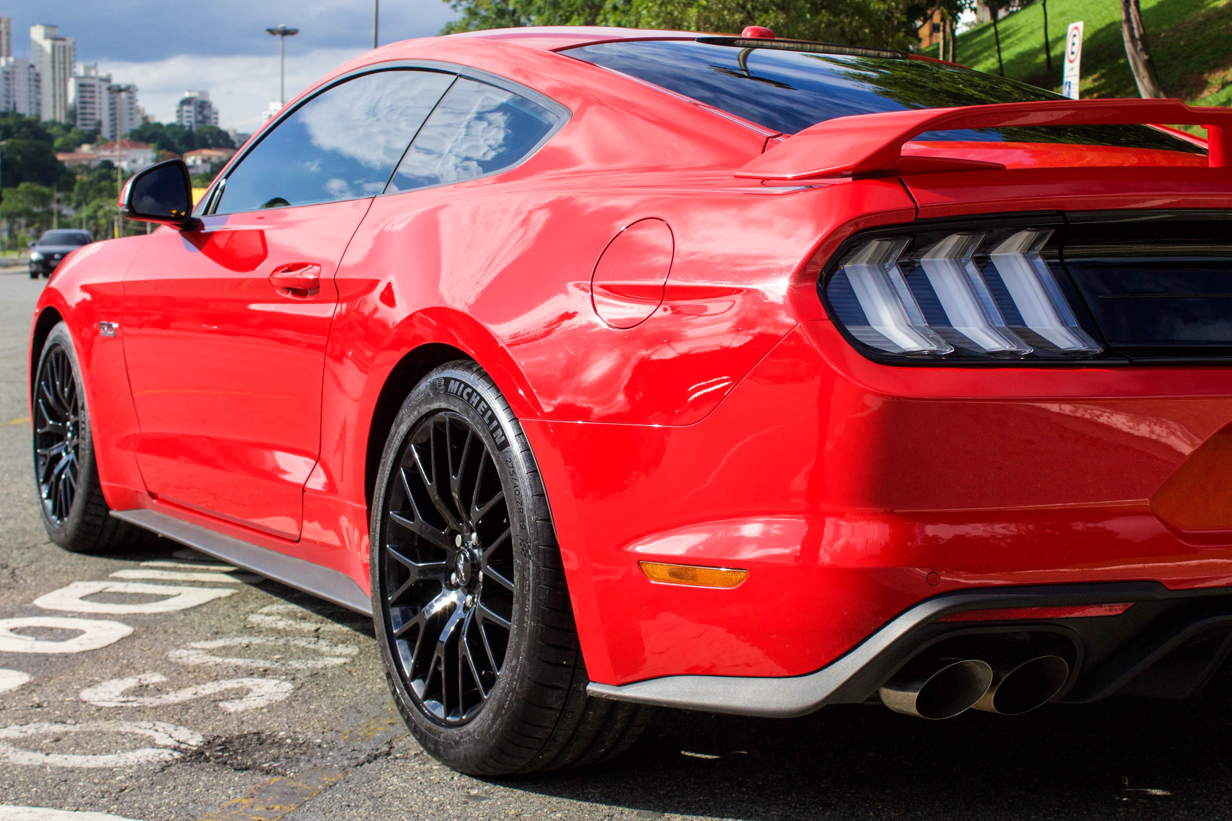
[[[386,442],[372,603],[415,739],[499,775],[604,761],[648,711],[589,698],[547,497],[521,426],[474,363],[429,374]]]

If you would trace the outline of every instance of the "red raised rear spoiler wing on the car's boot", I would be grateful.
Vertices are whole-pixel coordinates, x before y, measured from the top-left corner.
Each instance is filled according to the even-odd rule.
[[[1232,164],[1232,108],[1186,106],[1180,100],[1047,100],[961,108],[913,108],[838,117],[811,126],[774,145],[736,172],[752,180],[893,176],[925,171],[1002,169],[930,156],[903,156],[903,143],[924,132],[1015,126],[1201,126],[1207,164]]]

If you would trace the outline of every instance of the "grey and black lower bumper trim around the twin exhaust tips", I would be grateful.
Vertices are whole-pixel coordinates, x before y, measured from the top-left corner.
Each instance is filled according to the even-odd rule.
[[[1053,620],[939,623],[972,609],[1126,603],[1120,615]],[[872,698],[918,652],[947,639],[988,633],[1051,633],[1073,649],[1061,702],[1196,694],[1232,649],[1232,592],[1169,591],[1153,582],[1057,585],[936,596],[894,618],[854,650],[807,676],[668,676],[588,693],[638,704],[765,718],[793,718],[827,704]]]

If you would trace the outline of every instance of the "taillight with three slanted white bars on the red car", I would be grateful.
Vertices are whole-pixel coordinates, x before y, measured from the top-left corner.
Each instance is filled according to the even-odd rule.
[[[1072,361],[1104,347],[1079,322],[1050,225],[898,229],[848,242],[819,287],[873,358]],[[1069,292],[1069,293],[1067,293]]]

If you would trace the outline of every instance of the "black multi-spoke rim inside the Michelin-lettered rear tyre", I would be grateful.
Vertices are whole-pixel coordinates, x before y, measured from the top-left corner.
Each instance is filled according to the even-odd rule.
[[[411,430],[397,462],[381,607],[411,698],[444,725],[487,703],[514,611],[514,548],[500,474],[455,411]]]

